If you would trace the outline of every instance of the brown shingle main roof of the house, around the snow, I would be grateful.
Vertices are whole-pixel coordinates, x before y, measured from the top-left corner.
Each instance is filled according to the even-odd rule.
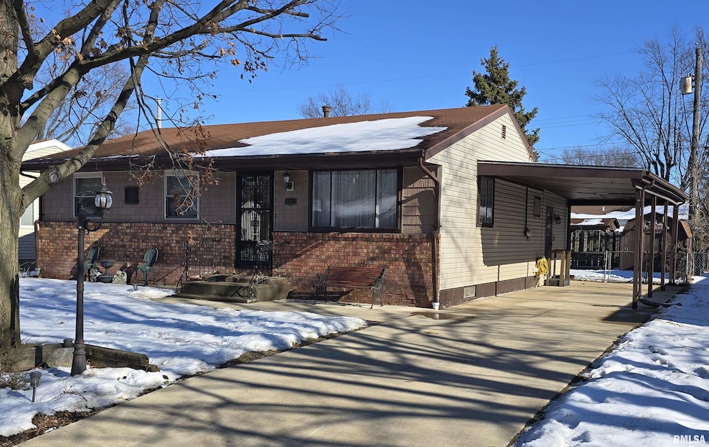
[[[416,147],[408,148],[408,151],[415,149],[437,149],[443,145],[450,145],[465,135],[474,132],[500,116],[510,113],[506,105],[477,106],[448,108],[432,111],[412,111],[396,113],[378,113],[371,115],[357,115],[340,118],[310,118],[300,120],[264,121],[258,123],[238,123],[238,124],[218,124],[203,126],[205,138],[195,141],[194,132],[191,130],[180,131],[177,128],[162,128],[160,133],[164,142],[173,150],[186,149],[189,152],[205,149],[225,149],[229,147],[244,147],[240,140],[261,135],[270,135],[279,132],[289,132],[291,130],[302,130],[308,128],[318,128],[325,125],[357,123],[369,120],[381,120],[386,118],[407,118],[411,116],[432,116],[431,120],[421,124],[422,127],[440,126],[446,129],[421,137],[422,140]],[[521,132],[521,130],[518,131]],[[523,138],[523,141],[526,140]],[[42,159],[44,164],[60,162],[62,159],[74,157],[82,148],[72,149],[62,152],[52,157]],[[531,153],[531,152],[530,152]],[[165,157],[167,152],[162,147],[154,135],[153,130],[139,132],[137,135],[126,135],[114,140],[107,140],[96,152],[96,157],[117,157],[117,156],[157,156]]]

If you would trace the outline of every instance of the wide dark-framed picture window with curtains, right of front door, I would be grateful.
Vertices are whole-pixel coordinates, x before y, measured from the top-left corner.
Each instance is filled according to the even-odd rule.
[[[313,227],[395,229],[398,171],[313,172]]]

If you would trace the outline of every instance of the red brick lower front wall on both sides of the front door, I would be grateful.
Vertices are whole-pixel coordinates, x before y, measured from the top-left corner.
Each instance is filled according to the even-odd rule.
[[[75,278],[76,222],[40,222],[37,238],[38,266],[43,278]],[[312,298],[316,274],[325,273],[330,264],[386,266],[382,290],[385,304],[430,307],[433,291],[429,234],[274,232],[273,239],[277,242],[274,275],[289,278],[294,296]],[[129,282],[133,282],[135,266],[147,249],[156,247],[157,283],[174,286],[184,271],[184,243],[188,240],[193,242],[189,246],[190,273],[235,272],[234,225],[109,222],[101,230],[85,235],[84,252],[99,245],[99,259],[116,260],[111,272],[126,271]],[[343,302],[372,301],[369,290],[340,290],[340,295]]]

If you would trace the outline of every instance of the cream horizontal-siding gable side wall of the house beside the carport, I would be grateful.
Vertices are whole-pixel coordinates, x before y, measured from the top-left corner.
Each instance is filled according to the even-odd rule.
[[[502,139],[502,125],[507,126]],[[496,179],[493,227],[477,225],[477,161],[530,162],[529,152],[504,115],[430,160],[442,166],[440,289],[493,283],[532,276],[536,259],[544,252],[546,206],[566,218],[564,200],[550,193]],[[533,216],[534,197],[542,198],[542,215]],[[527,227],[525,229],[525,198]],[[555,225],[556,227],[564,227]],[[565,246],[557,234],[555,247]]]

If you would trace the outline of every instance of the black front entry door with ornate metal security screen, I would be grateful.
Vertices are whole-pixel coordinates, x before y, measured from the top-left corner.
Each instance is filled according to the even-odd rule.
[[[257,244],[271,240],[273,225],[273,174],[240,174],[238,178],[237,264],[242,267],[271,266],[271,250]]]

